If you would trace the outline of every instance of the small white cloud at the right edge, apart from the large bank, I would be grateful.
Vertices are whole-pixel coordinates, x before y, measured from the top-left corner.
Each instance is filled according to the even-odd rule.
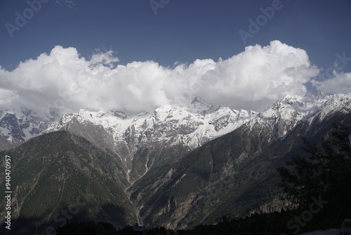
[[[351,91],[351,72],[334,72],[333,77],[328,80],[312,80],[312,84],[318,91],[324,93],[350,93]]]

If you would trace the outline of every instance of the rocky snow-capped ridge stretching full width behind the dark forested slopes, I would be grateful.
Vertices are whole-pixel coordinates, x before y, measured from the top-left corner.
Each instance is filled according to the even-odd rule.
[[[265,127],[265,131],[272,132],[272,141],[284,138],[305,120],[322,120],[338,110],[350,112],[350,102],[350,94],[284,96],[264,112],[256,113],[195,98],[187,106],[166,105],[137,115],[117,110],[79,110],[63,115],[59,122],[31,110],[1,110],[0,147],[14,148],[33,136],[67,129],[95,146],[114,151],[125,163],[126,171],[134,170],[140,176],[155,164],[187,153],[241,125],[249,129]]]

